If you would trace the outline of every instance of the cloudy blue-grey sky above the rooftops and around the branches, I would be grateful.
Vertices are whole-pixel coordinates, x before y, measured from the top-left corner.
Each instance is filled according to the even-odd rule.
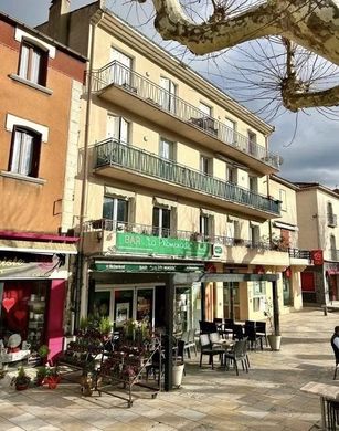
[[[92,0],[71,0],[71,8],[77,9],[92,3]],[[51,0],[0,0],[0,11],[28,25],[34,27],[47,20]],[[149,19],[150,3],[140,6],[137,1],[106,0],[106,6],[134,24],[146,31],[150,39],[159,42],[152,21]],[[170,42],[162,43],[165,49],[178,53]],[[221,77],[209,73],[208,61],[190,63],[209,81],[221,85]],[[224,77],[226,80],[226,77]],[[236,94],[232,94],[236,99]],[[243,103],[254,109],[251,102]],[[269,122],[275,132],[269,138],[273,153],[279,154],[284,162],[278,175],[289,181],[319,182],[329,188],[339,187],[339,114],[338,120],[328,119],[315,109],[295,114],[285,113]],[[295,127],[297,124],[297,128]]]

